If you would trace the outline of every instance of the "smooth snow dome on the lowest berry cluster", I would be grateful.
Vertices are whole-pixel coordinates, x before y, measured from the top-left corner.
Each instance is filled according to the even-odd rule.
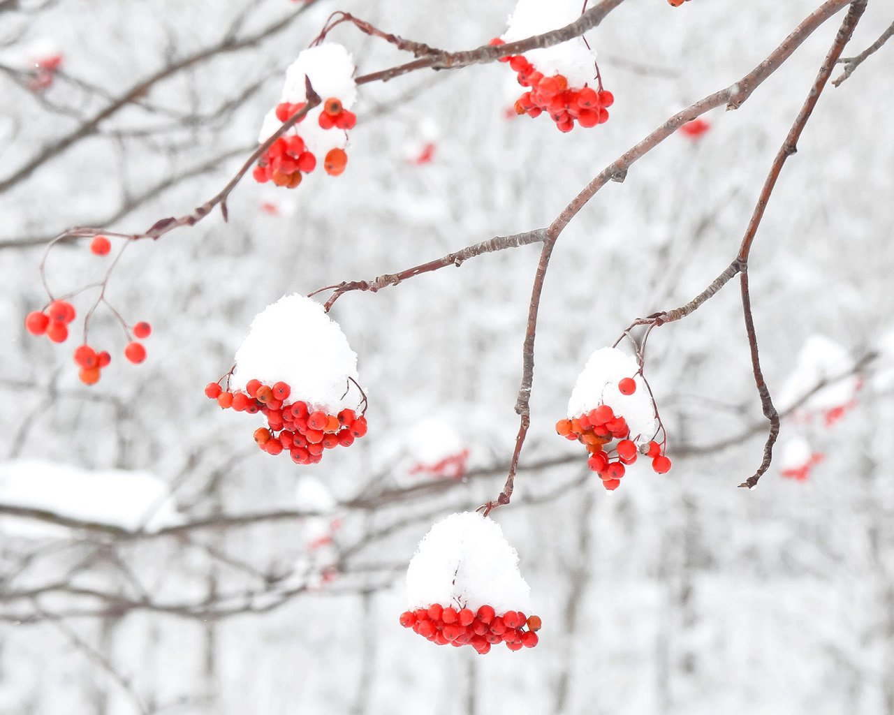
[[[407,569],[410,610],[434,603],[498,615],[530,610],[531,589],[519,573],[519,554],[493,519],[474,511],[451,514],[419,542]]]

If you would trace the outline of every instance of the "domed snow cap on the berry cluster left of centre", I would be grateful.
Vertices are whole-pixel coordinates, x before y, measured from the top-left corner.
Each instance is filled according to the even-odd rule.
[[[316,300],[293,293],[267,306],[251,322],[236,351],[231,386],[246,391],[249,380],[291,387],[289,405],[304,400],[335,415],[357,408],[357,353],[342,328]]]

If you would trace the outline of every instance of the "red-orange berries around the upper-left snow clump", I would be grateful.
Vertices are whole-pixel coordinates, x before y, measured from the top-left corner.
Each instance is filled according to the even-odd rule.
[[[296,112],[301,111],[304,103],[291,105],[283,102],[276,106],[276,119],[285,122]],[[302,122],[304,117],[299,119]],[[319,124],[323,129],[350,130],[357,123],[357,115],[342,106],[342,102],[330,97],[323,103]],[[348,164],[348,155],[344,149],[335,147],[329,150],[323,162],[325,172],[330,176],[338,176]],[[316,156],[305,147],[304,139],[299,134],[276,139],[273,146],[266,150],[264,156],[257,160],[252,176],[258,183],[273,181],[276,186],[294,189],[301,183],[303,174],[316,169]]]

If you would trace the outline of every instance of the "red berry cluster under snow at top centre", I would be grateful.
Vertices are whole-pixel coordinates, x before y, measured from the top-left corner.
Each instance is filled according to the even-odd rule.
[[[493,38],[490,44],[505,43],[500,38]],[[546,112],[561,131],[574,129],[575,120],[582,127],[595,127],[609,121],[608,107],[614,104],[614,95],[602,88],[601,80],[598,91],[586,85],[573,89],[569,88],[568,79],[562,74],[544,77],[543,72],[536,71],[524,55],[501,57],[500,62],[508,62],[518,73],[519,84],[531,88],[516,101],[516,114],[537,117]]]

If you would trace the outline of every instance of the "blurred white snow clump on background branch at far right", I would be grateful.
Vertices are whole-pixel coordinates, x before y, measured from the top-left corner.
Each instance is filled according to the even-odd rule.
[[[800,409],[828,410],[848,406],[859,390],[860,377],[842,375],[853,369],[854,359],[848,350],[824,335],[811,335],[797,355],[795,369],[779,391],[780,410],[793,408],[805,394],[826,380],[835,382],[816,391]]]

